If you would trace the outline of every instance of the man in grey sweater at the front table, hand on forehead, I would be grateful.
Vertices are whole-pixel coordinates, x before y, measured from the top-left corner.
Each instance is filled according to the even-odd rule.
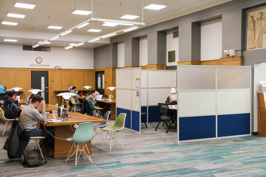
[[[19,120],[31,137],[45,137],[43,140],[45,141],[46,149],[48,150],[49,156],[52,156],[54,145],[54,133],[52,131],[49,131],[49,133],[44,129],[38,129],[38,127],[36,126],[37,120],[46,120],[46,111],[44,109],[44,106],[45,103],[43,101],[43,97],[41,97],[40,95],[34,95],[32,97],[32,103],[30,103],[22,110]],[[39,111],[37,110],[39,107],[41,107],[42,109],[41,113],[39,113]]]

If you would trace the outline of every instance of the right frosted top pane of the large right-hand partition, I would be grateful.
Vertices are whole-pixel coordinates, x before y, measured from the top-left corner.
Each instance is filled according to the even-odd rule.
[[[250,89],[250,68],[217,68],[217,89]]]

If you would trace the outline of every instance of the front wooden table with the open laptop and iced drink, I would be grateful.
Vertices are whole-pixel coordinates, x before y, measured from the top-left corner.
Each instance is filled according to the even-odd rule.
[[[80,124],[84,122],[92,122],[92,123],[105,123],[106,120],[101,118],[95,118],[89,115],[84,115],[80,113],[68,113],[68,115],[71,117],[67,119],[64,122],[55,122],[55,123],[47,123],[47,122],[40,122],[42,124],[41,128],[44,128],[43,126],[46,126],[46,129],[53,128],[55,137],[62,138],[62,139],[56,139],[54,140],[54,158],[60,158],[60,157],[67,157],[69,154],[69,151],[73,145],[72,141],[63,140],[66,138],[70,138],[74,135],[75,130],[72,130],[70,125]],[[47,120],[52,119],[52,114],[47,114]],[[73,126],[72,126],[73,128]],[[91,154],[91,142],[88,141],[87,143],[89,153]],[[71,153],[73,153],[75,150],[72,150]],[[88,153],[88,152],[87,152]]]

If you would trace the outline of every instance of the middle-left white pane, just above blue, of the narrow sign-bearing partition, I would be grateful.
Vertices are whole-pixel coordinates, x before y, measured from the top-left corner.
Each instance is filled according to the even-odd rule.
[[[117,107],[131,109],[131,90],[116,90]]]

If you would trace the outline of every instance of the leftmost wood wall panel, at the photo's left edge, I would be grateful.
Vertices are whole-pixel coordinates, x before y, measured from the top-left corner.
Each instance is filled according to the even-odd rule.
[[[1,76],[1,85],[7,90],[15,87],[15,69],[1,69]]]

